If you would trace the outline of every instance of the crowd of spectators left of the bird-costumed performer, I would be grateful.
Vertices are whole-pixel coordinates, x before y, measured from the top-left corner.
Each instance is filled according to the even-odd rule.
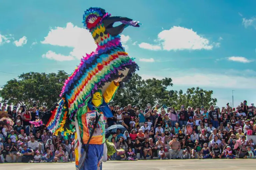
[[[39,119],[40,112],[47,111],[45,106],[33,107],[6,106],[0,103],[0,162],[67,162],[74,161],[74,134],[64,140],[55,136],[46,126],[35,127],[30,121]],[[4,121],[3,121],[4,120]]]

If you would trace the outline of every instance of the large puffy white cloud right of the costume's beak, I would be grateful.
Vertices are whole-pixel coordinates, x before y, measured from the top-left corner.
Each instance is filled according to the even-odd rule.
[[[168,51],[213,48],[208,39],[199,36],[192,29],[184,27],[174,26],[170,30],[164,30],[158,34],[158,39],[162,41],[163,49]]]

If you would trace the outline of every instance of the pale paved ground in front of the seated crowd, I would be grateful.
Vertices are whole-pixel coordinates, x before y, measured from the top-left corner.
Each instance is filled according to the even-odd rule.
[[[139,160],[139,161],[107,161],[103,170],[255,170],[255,159],[190,159],[190,160]],[[74,163],[4,163],[1,170],[70,170],[75,169]]]

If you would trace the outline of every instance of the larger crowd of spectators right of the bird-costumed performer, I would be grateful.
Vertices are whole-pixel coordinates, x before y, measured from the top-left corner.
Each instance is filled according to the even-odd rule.
[[[110,105],[107,126],[122,125],[106,136],[116,152],[108,160],[255,158],[256,107],[247,101],[236,108],[181,106],[142,109]],[[106,127],[107,128],[107,127]],[[251,138],[250,138],[251,137]],[[256,139],[256,138],[255,138]],[[254,140],[255,140],[254,139]],[[256,142],[256,141],[255,141]]]

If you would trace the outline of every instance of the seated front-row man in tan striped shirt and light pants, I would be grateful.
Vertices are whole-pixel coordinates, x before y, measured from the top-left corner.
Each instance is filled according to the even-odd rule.
[[[170,149],[169,149],[169,156],[170,159],[180,158],[182,151],[180,150],[180,142],[177,141],[176,136],[173,136],[173,139],[169,142]]]

